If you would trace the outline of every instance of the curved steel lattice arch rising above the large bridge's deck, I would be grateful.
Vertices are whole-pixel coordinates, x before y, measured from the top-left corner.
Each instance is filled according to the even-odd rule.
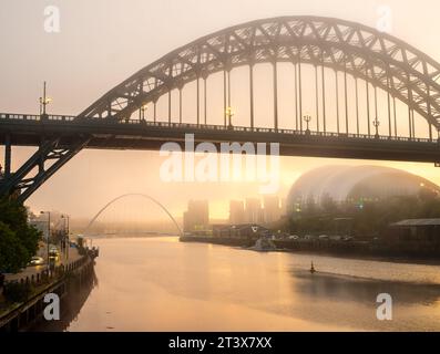
[[[197,79],[257,63],[308,63],[371,83],[440,129],[440,64],[366,25],[319,17],[253,21],[204,37],[145,66],[80,116],[129,118]]]

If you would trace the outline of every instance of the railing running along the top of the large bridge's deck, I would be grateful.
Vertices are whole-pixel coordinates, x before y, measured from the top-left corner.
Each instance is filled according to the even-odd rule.
[[[332,132],[313,132],[313,131],[295,131],[283,128],[268,127],[246,127],[246,126],[225,126],[213,124],[195,124],[195,123],[173,123],[173,122],[152,122],[145,119],[123,119],[117,121],[113,118],[81,118],[71,115],[34,115],[34,114],[14,114],[0,113],[1,119],[11,119],[18,122],[41,122],[41,123],[92,123],[92,124],[117,124],[117,125],[139,125],[145,127],[167,127],[167,128],[191,128],[195,131],[221,131],[221,132],[238,132],[238,133],[272,133],[272,134],[289,134],[295,136],[311,136],[311,137],[335,137],[335,138],[350,138],[350,139],[379,139],[405,143],[431,143],[438,144],[438,139],[416,138],[406,136],[387,136],[387,135],[368,135],[356,133],[332,133]]]

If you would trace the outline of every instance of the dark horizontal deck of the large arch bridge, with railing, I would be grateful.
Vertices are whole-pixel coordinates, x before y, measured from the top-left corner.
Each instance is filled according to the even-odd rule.
[[[0,144],[9,136],[16,146],[39,146],[44,137],[60,137],[69,147],[81,136],[92,136],[85,148],[157,150],[164,143],[184,146],[185,134],[195,143],[279,143],[280,155],[380,160],[440,162],[437,139],[341,134],[293,129],[196,125],[146,121],[111,121],[64,115],[0,114]],[[268,150],[268,147],[267,147]]]

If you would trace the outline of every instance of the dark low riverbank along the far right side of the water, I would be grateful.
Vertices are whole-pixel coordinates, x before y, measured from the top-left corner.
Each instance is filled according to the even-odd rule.
[[[183,236],[181,242],[201,242],[250,248],[255,240],[246,238]],[[275,252],[335,256],[413,264],[440,264],[440,250],[420,248],[417,244],[391,246],[366,241],[273,240]]]

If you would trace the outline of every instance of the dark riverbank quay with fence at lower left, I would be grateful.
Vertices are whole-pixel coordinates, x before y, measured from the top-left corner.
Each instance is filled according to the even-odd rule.
[[[24,300],[6,301],[0,303],[0,332],[29,331],[41,319],[47,304],[44,296],[55,293],[61,303],[74,292],[78,287],[86,282],[93,274],[94,260],[99,256],[96,249],[85,249],[76,260],[65,266],[58,266],[51,271],[42,271],[31,277],[19,278],[6,283],[18,293],[24,293]]]

